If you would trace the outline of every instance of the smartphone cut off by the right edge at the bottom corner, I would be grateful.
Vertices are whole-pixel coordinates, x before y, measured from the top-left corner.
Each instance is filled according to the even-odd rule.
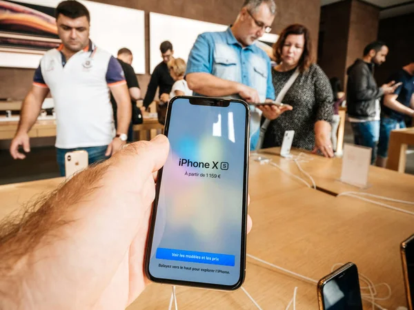
[[[414,310],[414,235],[401,243],[401,258],[408,310]]]

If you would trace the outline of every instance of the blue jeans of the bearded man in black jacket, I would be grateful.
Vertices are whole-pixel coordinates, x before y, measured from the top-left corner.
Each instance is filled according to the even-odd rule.
[[[371,147],[371,165],[377,157],[377,143],[380,138],[380,121],[369,121],[364,123],[351,123],[354,133],[354,143],[364,147]]]

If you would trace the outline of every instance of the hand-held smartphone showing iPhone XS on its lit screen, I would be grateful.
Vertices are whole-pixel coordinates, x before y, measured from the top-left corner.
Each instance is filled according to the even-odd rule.
[[[153,282],[242,286],[246,266],[249,110],[244,101],[178,96],[159,170],[145,257]]]

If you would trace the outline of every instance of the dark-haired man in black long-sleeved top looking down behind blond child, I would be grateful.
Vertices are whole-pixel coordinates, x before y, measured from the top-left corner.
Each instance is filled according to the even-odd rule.
[[[152,72],[150,83],[148,84],[148,90],[144,99],[144,107],[142,109],[148,109],[148,105],[154,101],[155,92],[157,92],[157,87],[159,87],[159,96],[161,94],[170,94],[172,84],[174,80],[170,76],[170,71],[168,70],[167,63],[172,58],[174,50],[172,50],[172,44],[170,41],[164,41],[159,46],[161,50],[162,61],[155,67],[154,72]]]

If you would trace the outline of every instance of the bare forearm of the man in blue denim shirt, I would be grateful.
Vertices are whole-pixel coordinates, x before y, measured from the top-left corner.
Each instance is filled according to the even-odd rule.
[[[239,93],[239,83],[220,79],[208,73],[190,73],[186,76],[190,90],[204,96],[230,96]]]

